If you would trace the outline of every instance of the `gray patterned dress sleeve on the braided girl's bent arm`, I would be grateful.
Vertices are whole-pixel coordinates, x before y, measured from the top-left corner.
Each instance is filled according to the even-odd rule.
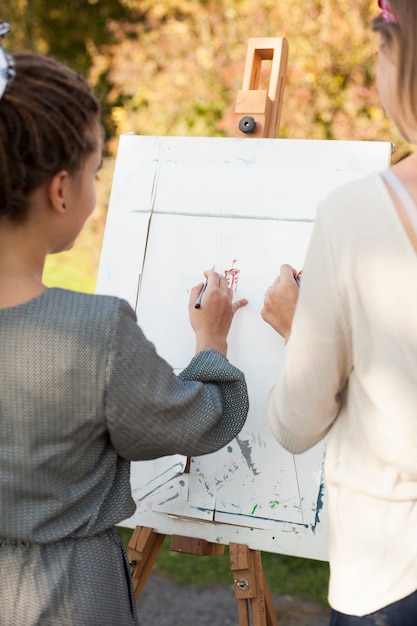
[[[176,376],[124,301],[110,350],[106,418],[125,459],[215,452],[242,429],[249,409],[243,373],[215,350]]]

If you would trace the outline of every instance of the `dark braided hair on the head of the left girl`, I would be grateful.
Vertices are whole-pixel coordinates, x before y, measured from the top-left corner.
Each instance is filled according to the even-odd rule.
[[[23,221],[31,193],[60,170],[74,174],[97,147],[99,106],[87,83],[53,59],[14,55],[0,100],[0,218]]]

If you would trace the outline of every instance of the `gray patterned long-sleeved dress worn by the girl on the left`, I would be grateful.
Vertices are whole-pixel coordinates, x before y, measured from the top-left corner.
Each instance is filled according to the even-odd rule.
[[[206,350],[175,376],[123,300],[0,309],[0,625],[137,624],[130,461],[213,452],[247,411],[242,372]]]

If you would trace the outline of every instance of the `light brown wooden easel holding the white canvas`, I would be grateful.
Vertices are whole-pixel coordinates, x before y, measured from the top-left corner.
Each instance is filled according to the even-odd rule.
[[[262,61],[272,61],[269,88],[259,89]],[[278,134],[288,43],[284,38],[251,38],[248,43],[242,89],[238,92],[235,118],[236,137],[271,137]],[[189,462],[186,466],[189,471]],[[136,526],[128,545],[135,599],[138,600],[165,535],[151,528]],[[170,550],[199,556],[222,555],[224,545],[204,539],[171,537]],[[230,569],[233,575],[240,626],[278,626],[271,594],[262,568],[261,552],[230,543]],[[252,621],[251,621],[252,620]]]

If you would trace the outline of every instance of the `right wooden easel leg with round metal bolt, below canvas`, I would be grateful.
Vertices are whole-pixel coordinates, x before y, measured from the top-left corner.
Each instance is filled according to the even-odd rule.
[[[260,551],[237,543],[231,543],[229,550],[239,626],[250,626],[250,614],[254,626],[278,626]]]

